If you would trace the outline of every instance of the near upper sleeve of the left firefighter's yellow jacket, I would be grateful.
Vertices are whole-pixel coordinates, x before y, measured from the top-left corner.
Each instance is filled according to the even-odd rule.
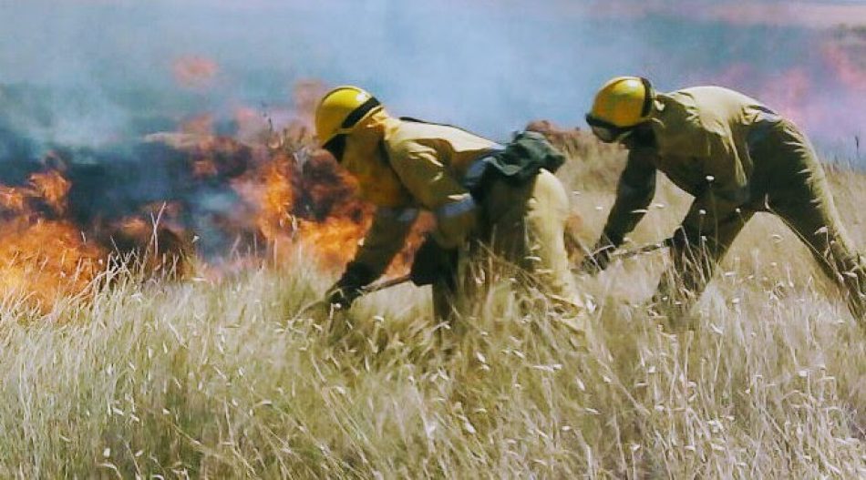
[[[478,208],[469,191],[448,173],[433,148],[404,142],[391,155],[391,166],[403,185],[436,216],[434,240],[446,249],[461,245],[478,223]]]

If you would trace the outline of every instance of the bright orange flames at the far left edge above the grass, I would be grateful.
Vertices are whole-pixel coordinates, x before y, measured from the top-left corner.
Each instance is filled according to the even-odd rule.
[[[24,295],[46,310],[87,291],[115,249],[137,254],[151,274],[166,264],[182,273],[188,247],[164,226],[130,218],[88,238],[66,218],[71,188],[56,169],[32,174],[21,187],[0,186],[0,295]]]

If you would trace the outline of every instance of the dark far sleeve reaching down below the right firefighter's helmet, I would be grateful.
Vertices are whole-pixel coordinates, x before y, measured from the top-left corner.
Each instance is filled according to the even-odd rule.
[[[616,200],[604,225],[602,241],[613,246],[623,243],[625,235],[634,230],[644,218],[646,207],[655,195],[655,167],[651,161],[653,153],[647,149],[635,149],[628,154],[628,163],[616,186]]]

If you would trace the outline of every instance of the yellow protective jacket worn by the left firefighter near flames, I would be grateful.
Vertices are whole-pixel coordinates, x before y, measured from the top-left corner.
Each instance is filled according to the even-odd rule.
[[[477,229],[479,212],[461,180],[474,160],[500,146],[459,128],[384,111],[368,123],[381,143],[357,154],[350,138],[343,165],[358,179],[361,197],[377,207],[355,261],[378,276],[402,248],[418,209],[433,212],[432,234],[445,248],[459,246]]]

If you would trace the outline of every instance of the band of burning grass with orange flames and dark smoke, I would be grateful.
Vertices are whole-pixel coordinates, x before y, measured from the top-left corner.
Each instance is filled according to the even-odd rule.
[[[248,141],[202,131],[197,121],[192,132],[184,123],[129,145],[21,158],[25,171],[16,173],[26,177],[0,191],[5,291],[44,303],[85,293],[123,263],[182,279],[194,264],[210,275],[283,264],[297,246],[325,271],[338,269],[373,208],[315,148],[309,121],[262,129]],[[419,238],[417,230],[395,271],[405,269]]]

